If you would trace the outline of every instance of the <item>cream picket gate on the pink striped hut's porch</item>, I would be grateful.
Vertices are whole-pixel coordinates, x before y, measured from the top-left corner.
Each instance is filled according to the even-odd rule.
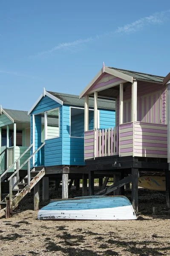
[[[96,157],[118,154],[118,128],[108,128],[96,132]]]

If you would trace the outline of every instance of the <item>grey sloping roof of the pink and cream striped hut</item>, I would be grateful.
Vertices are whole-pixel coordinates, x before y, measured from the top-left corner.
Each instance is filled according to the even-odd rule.
[[[155,76],[155,75],[150,75],[150,74],[145,74],[145,73],[140,73],[140,72],[135,72],[135,71],[130,71],[130,70],[123,70],[120,68],[116,67],[108,67],[113,70],[117,70],[118,72],[124,73],[129,76],[133,76],[134,79],[138,81],[147,81],[147,82],[156,82],[156,83],[163,83],[164,76]]]

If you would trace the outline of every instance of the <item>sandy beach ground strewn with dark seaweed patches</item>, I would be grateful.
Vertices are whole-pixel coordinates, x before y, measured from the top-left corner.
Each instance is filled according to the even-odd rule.
[[[70,197],[75,195],[81,191],[72,189]],[[60,188],[51,189],[50,198],[60,196]],[[0,256],[170,255],[170,212],[161,193],[139,189],[135,221],[39,221],[32,199],[30,193],[13,218],[0,219]]]

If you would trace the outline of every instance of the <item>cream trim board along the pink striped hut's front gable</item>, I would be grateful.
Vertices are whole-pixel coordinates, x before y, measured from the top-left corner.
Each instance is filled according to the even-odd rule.
[[[121,73],[117,70],[114,70],[112,68],[109,68],[109,67],[106,67],[104,66],[98,73],[97,75],[92,79],[92,81],[85,87],[85,89],[80,93],[80,96],[79,98],[81,99],[82,97],[84,97],[86,95],[86,92],[92,87],[92,85],[97,81],[97,79],[100,78],[100,76],[103,74],[103,73],[108,73],[112,76],[116,76],[116,77],[119,77],[121,78],[122,80],[126,80],[128,82],[133,82],[133,76],[129,76],[129,75],[126,75],[124,73]]]

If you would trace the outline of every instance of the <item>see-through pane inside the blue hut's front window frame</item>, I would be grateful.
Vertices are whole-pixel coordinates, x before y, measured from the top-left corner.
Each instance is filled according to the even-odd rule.
[[[59,137],[59,108],[47,112],[47,138]]]

